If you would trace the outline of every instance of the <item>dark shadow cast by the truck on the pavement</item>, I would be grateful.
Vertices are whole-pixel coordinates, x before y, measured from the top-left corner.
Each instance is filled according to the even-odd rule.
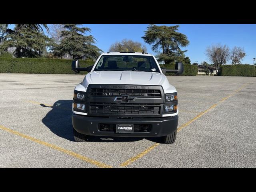
[[[72,100],[58,100],[53,106],[40,104],[42,107],[52,108],[42,119],[42,123],[59,137],[74,141],[72,127]],[[106,137],[88,136],[88,142],[134,142],[142,140],[140,137]],[[146,138],[157,142],[158,138]]]

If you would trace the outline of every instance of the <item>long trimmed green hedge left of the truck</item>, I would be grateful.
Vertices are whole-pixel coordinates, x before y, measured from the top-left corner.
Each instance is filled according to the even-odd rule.
[[[80,60],[80,67],[94,64]],[[76,74],[69,59],[0,58],[0,73]],[[86,74],[87,72],[80,72]]]

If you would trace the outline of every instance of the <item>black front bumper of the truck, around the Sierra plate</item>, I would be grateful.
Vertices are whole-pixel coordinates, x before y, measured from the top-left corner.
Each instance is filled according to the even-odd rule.
[[[178,115],[162,118],[108,118],[91,117],[72,114],[74,129],[85,135],[117,136],[117,137],[152,137],[172,134],[178,126]],[[150,124],[150,132],[116,133],[114,131],[100,131],[98,124]]]

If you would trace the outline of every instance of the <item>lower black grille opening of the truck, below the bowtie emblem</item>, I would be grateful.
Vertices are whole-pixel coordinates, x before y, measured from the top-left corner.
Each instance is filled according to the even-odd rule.
[[[91,114],[159,115],[160,104],[90,103]]]

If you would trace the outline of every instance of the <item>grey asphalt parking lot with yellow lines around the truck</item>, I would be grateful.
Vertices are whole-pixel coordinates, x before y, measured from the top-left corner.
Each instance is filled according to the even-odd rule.
[[[168,76],[178,91],[174,144],[74,142],[73,90],[84,75],[0,74],[0,167],[256,167],[256,78]]]

